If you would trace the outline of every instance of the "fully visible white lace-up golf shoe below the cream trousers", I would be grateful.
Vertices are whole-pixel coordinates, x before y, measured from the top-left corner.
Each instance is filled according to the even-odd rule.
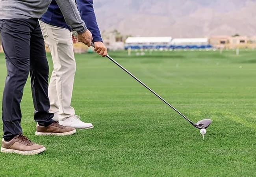
[[[82,122],[80,120],[80,117],[77,115],[70,116],[63,121],[59,121],[59,125],[62,125],[65,127],[73,127],[75,129],[92,129],[93,128],[93,124]]]

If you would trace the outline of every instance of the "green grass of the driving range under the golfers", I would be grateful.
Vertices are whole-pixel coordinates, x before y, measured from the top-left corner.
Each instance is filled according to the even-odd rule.
[[[109,53],[191,120],[211,118],[205,140],[108,59],[76,55],[72,106],[95,128],[35,136],[28,81],[24,135],[46,151],[1,153],[0,176],[256,176],[256,52]],[[6,68],[0,58],[2,94]]]

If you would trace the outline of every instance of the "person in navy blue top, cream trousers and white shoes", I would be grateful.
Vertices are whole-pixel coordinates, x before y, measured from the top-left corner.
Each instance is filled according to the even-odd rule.
[[[92,32],[95,51],[107,55],[97,25],[93,0],[76,0],[82,20]],[[53,71],[49,83],[50,112],[60,125],[76,129],[91,129],[93,124],[85,123],[71,107],[76,61],[73,51],[72,28],[65,22],[56,0],[52,0],[47,12],[41,17],[40,25],[43,37],[51,51]],[[73,37],[74,38],[74,37]]]

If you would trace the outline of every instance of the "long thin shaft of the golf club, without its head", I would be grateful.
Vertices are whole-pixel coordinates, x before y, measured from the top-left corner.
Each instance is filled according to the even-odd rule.
[[[91,46],[94,47],[94,44],[91,43]],[[122,65],[120,65],[119,63],[117,63],[117,61],[115,61],[114,59],[112,59],[109,55],[106,56],[109,60],[111,60],[113,63],[115,63],[117,66],[119,66],[119,68],[121,68],[122,70],[124,70],[126,73],[128,73],[130,76],[132,76],[136,81],[138,81],[141,85],[143,85],[146,89],[148,89],[150,92],[152,92],[155,96],[157,96],[160,100],[162,100],[165,104],[167,104],[169,107],[171,107],[174,111],[178,112],[178,114],[180,114],[183,118],[185,118],[188,122],[190,122],[190,124],[192,124],[193,126],[195,126],[195,124],[189,120],[186,116],[184,116],[180,111],[178,111],[175,107],[173,107],[171,104],[169,104],[167,101],[165,101],[161,96],[159,96],[156,92],[154,92],[154,90],[150,89],[145,83],[143,83],[141,80],[139,80],[137,77],[135,77],[132,73],[130,73],[128,70],[126,70]]]

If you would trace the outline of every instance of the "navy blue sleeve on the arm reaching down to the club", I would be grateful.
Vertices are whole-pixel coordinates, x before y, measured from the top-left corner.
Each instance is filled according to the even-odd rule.
[[[100,35],[100,30],[98,28],[94,8],[93,8],[93,0],[76,0],[78,4],[78,10],[82,17],[82,20],[86,23],[87,28],[93,34],[93,42],[100,41],[102,42],[102,38]]]

